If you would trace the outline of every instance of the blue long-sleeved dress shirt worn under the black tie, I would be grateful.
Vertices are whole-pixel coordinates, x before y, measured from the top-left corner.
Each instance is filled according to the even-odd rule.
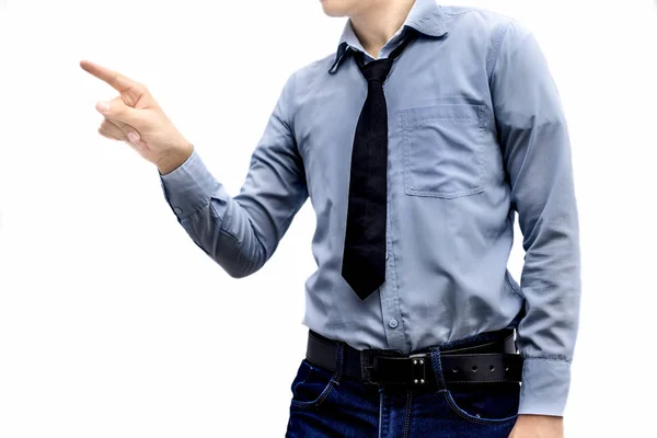
[[[356,348],[405,353],[517,327],[520,414],[563,415],[578,331],[580,252],[570,145],[533,34],[477,8],[416,0],[381,49],[419,32],[384,84],[385,283],[361,301],[341,275],[354,131],[367,94],[349,50],[290,74],[235,196],[198,152],[160,175],[192,240],[230,276],[257,272],[310,198],[316,214],[303,324]],[[366,53],[367,61],[372,58]],[[520,284],[507,269],[518,212]]]

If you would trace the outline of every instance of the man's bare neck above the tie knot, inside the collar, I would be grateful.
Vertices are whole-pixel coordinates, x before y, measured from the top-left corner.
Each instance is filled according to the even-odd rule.
[[[389,0],[349,18],[354,33],[372,58],[379,57],[381,48],[404,24],[414,3],[415,0]]]

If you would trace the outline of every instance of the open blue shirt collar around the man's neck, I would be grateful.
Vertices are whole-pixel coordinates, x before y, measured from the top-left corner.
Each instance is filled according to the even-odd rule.
[[[404,30],[406,26],[413,27],[417,32],[428,36],[442,36],[447,33],[445,15],[440,5],[436,3],[436,0],[415,0],[401,28]],[[328,72],[335,73],[348,49],[356,47],[360,48],[361,46],[356,33],[354,33],[351,20],[349,19],[343,28],[335,53],[335,60]]]

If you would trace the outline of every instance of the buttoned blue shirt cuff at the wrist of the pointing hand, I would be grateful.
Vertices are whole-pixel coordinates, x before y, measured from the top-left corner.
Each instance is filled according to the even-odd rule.
[[[220,188],[196,149],[175,170],[165,175],[160,173],[160,181],[166,201],[181,220],[208,205]]]

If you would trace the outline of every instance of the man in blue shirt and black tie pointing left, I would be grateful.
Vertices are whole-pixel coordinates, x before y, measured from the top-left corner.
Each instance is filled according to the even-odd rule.
[[[100,132],[157,165],[180,223],[232,277],[257,272],[312,199],[287,436],[562,437],[578,219],[535,38],[435,0],[322,7],[349,16],[337,50],[290,76],[238,195],[142,84],[82,61],[120,92],[99,103]],[[506,269],[515,211],[521,285]]]

